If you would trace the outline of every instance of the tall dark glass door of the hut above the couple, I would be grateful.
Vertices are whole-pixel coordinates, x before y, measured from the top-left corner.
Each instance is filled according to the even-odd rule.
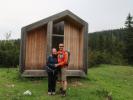
[[[58,50],[59,43],[63,42],[64,42],[64,21],[61,21],[53,25],[52,48],[56,48]]]

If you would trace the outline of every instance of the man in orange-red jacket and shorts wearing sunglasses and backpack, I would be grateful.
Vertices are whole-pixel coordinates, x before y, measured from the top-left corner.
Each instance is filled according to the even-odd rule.
[[[66,77],[66,70],[67,70],[67,60],[68,60],[68,53],[64,50],[64,44],[59,44],[59,51],[58,51],[58,64],[55,64],[56,67],[60,68],[60,79],[61,79],[61,88],[60,92],[62,96],[66,96],[66,89],[67,89],[67,77]]]

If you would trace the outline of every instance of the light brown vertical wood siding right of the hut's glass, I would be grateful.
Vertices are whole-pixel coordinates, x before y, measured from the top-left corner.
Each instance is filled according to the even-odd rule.
[[[64,47],[70,50],[70,63],[68,69],[83,69],[83,31],[82,27],[65,21]]]

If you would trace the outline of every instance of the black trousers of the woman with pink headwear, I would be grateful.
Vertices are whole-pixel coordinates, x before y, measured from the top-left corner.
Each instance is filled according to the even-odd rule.
[[[48,92],[55,92],[56,79],[57,79],[56,72],[54,72],[54,73],[48,72]]]

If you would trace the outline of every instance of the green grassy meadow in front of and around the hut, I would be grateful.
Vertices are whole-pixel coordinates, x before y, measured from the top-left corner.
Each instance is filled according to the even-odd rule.
[[[17,68],[0,68],[0,100],[133,100],[131,66],[99,65],[86,78],[68,81],[66,97],[48,96],[47,78],[21,78]],[[23,95],[26,90],[32,95]]]

